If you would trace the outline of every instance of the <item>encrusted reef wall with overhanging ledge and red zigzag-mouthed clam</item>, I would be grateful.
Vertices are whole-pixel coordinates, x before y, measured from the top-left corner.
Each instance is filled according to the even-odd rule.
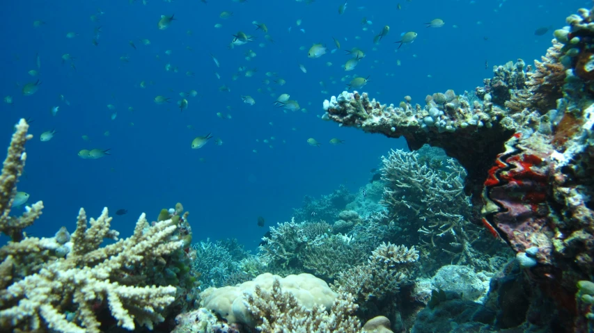
[[[343,92],[324,107],[344,126],[458,159],[472,222],[516,253],[538,286],[531,302],[555,302],[559,332],[586,332],[575,320],[575,293],[594,276],[594,12],[581,8],[567,23],[535,69],[522,60],[496,67],[477,99],[448,90],[425,106],[409,98],[386,106]]]

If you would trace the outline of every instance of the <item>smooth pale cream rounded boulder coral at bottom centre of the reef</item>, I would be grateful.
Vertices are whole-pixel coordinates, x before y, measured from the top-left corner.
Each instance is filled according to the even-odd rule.
[[[332,307],[338,294],[330,289],[328,284],[311,274],[288,275],[280,277],[264,273],[252,281],[244,282],[237,286],[224,286],[222,288],[208,288],[201,293],[202,307],[217,312],[229,323],[244,323],[250,327],[256,325],[256,320],[251,316],[244,304],[244,293],[253,294],[256,286],[264,291],[272,291],[274,279],[281,283],[283,291],[289,291],[307,309],[314,305],[324,305],[327,309]]]

